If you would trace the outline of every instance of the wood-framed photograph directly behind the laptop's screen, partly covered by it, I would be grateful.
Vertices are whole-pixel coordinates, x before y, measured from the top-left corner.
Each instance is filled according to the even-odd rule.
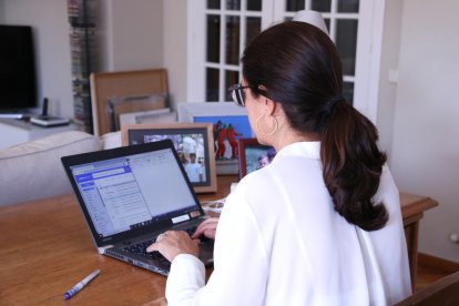
[[[214,136],[211,123],[128,124],[123,145],[170,139],[196,193],[216,191]]]

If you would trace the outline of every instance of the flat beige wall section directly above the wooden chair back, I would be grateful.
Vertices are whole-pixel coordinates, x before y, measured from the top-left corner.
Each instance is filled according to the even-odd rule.
[[[163,68],[163,1],[103,0],[101,71]]]

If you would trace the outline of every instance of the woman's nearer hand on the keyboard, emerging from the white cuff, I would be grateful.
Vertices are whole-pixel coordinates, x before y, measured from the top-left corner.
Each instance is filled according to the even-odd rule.
[[[200,241],[192,239],[186,232],[167,231],[157,236],[156,242],[146,248],[146,252],[157,251],[167,261],[172,262],[178,254],[200,256]]]

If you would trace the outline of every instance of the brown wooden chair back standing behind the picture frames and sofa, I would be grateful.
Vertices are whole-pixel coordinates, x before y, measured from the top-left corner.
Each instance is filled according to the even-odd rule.
[[[119,114],[166,108],[165,69],[92,73],[94,135],[119,130]]]

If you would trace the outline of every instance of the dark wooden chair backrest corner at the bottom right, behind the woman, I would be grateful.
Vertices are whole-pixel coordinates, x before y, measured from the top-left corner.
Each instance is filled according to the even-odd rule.
[[[445,276],[434,284],[416,292],[396,306],[459,305],[459,272]]]

